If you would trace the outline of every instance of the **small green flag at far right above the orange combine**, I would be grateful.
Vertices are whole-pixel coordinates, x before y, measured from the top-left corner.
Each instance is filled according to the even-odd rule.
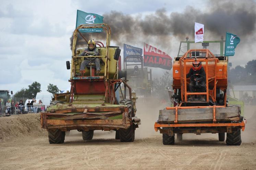
[[[239,37],[229,32],[226,32],[225,56],[235,55],[235,48],[239,42],[240,42]]]

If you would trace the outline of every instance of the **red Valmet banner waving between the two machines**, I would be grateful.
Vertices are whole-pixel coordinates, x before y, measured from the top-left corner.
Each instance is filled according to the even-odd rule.
[[[157,48],[144,43],[144,66],[172,69],[172,57]]]

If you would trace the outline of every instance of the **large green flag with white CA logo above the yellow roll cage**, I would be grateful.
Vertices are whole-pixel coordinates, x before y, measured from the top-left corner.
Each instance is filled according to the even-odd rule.
[[[103,16],[93,13],[86,13],[77,10],[76,13],[76,28],[82,24],[99,24],[103,23]],[[82,28],[80,32],[102,32],[102,28]]]

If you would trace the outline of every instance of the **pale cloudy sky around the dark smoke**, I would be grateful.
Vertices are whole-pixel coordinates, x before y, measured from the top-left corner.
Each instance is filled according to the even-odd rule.
[[[113,0],[106,2],[104,0],[0,0],[0,89],[9,89],[15,93],[22,88],[27,88],[34,81],[41,84],[42,92],[46,92],[49,83],[57,85],[60,90],[70,89],[70,82],[68,82],[70,70],[66,69],[65,62],[71,61],[70,37],[75,29],[77,10],[96,13],[103,17],[106,16],[109,20],[109,17],[112,16],[110,14],[117,12],[117,14],[121,13],[124,16],[132,17],[136,24],[145,24],[150,21],[150,17],[154,18],[156,15],[166,15],[169,18],[168,22],[172,22],[175,16],[183,16],[189,10],[191,11],[188,17],[189,15],[196,16],[197,13],[208,14],[210,10],[209,2],[203,0],[184,0],[182,2],[169,0]],[[248,2],[255,5],[255,1]],[[175,18],[178,18],[178,16]],[[209,14],[209,18],[210,16]],[[180,18],[182,20],[182,17]],[[114,20],[115,17],[111,19]],[[192,23],[197,22],[192,20]],[[168,22],[167,24],[169,24]],[[253,24],[255,26],[255,23]],[[209,25],[205,25],[205,32],[207,32],[207,26],[209,28]],[[166,29],[168,32],[169,27]],[[168,33],[167,36],[169,40],[165,45],[161,45],[163,41],[160,42],[161,39],[159,37],[166,38],[166,35],[151,37],[144,34],[146,38],[140,39],[137,38],[139,36],[138,33],[134,34],[136,36],[131,36],[131,39],[120,37],[118,42],[112,41],[111,45],[120,45],[120,48],[123,49],[121,43],[126,43],[143,48],[143,42],[146,41],[146,43],[167,52],[174,58],[178,53],[179,41],[184,41],[187,35],[191,35],[190,33],[194,31],[193,29],[194,25],[191,24],[191,31],[188,31],[187,34],[186,32],[184,34],[176,34],[173,30],[170,30],[170,34]],[[242,28],[238,27],[237,31],[236,29],[232,30],[242,34],[243,30],[239,29]],[[209,30],[214,32],[212,26]],[[235,34],[236,32],[233,33]],[[253,41],[256,37],[255,29],[248,30],[248,32],[248,35],[244,36],[244,38],[252,41],[249,44],[243,44],[246,40],[241,39],[241,44],[237,45],[236,48],[236,55],[230,59],[233,67],[236,65],[244,66],[248,61],[256,59],[255,55],[252,55],[250,51],[256,45],[255,41]],[[111,36],[114,37],[115,35]],[[204,39],[214,40],[214,38],[217,38],[219,40],[220,36],[206,34]],[[190,40],[194,40],[193,36],[190,36]],[[164,71],[162,69],[155,70],[158,73],[163,73]]]

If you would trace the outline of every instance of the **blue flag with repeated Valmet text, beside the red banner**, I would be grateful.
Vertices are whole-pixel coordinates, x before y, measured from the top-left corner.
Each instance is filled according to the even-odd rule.
[[[127,56],[138,56],[128,57]],[[124,44],[124,61],[126,62],[141,62],[139,56],[142,56],[142,49],[138,47],[133,47],[132,45]]]

